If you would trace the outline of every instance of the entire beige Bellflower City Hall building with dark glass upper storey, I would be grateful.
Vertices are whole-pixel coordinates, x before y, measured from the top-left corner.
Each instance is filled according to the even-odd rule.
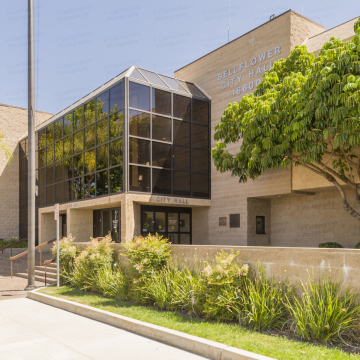
[[[79,242],[159,233],[173,244],[353,247],[360,225],[332,184],[301,166],[240,184],[216,171],[210,150],[228,103],[275,61],[296,45],[317,56],[331,37],[350,40],[355,21],[325,30],[289,10],[174,77],[132,66],[56,115],[37,112],[39,242],[55,237],[60,203],[60,235]],[[0,162],[0,238],[26,237],[26,109],[0,105],[0,129],[15,156]]]

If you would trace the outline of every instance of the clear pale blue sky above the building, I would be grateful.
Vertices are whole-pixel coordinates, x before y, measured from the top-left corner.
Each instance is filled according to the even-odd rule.
[[[166,75],[227,42],[228,1],[34,0],[36,109],[57,113],[131,65]],[[360,1],[231,1],[230,40],[293,9],[326,29]],[[0,103],[27,107],[27,0],[0,13]]]

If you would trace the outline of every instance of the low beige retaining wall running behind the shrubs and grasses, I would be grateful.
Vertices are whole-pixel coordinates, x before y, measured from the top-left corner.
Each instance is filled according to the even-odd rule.
[[[240,250],[239,260],[256,268],[260,262],[265,266],[267,276],[287,276],[294,282],[306,281],[308,274],[317,278],[331,270],[334,276],[341,275],[345,284],[360,292],[360,250],[354,249],[319,249],[319,248],[282,248],[261,246],[186,246],[171,245],[173,256],[179,264],[192,265],[194,259],[213,260],[221,249],[230,252]]]

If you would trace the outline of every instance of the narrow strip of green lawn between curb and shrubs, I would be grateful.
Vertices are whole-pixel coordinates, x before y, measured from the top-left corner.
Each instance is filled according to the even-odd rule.
[[[47,287],[39,290],[39,292],[182,331],[278,360],[360,360],[360,355],[348,354],[340,349],[290,340],[276,334],[258,333],[233,324],[189,318],[180,313],[161,311],[121,300],[107,299],[101,295],[87,294],[66,286],[59,289]]]

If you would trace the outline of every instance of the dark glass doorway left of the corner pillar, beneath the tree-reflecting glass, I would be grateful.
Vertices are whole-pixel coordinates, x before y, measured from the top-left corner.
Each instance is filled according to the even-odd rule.
[[[112,240],[119,243],[120,240],[120,208],[94,210],[93,212],[93,236],[104,237],[111,234]]]

